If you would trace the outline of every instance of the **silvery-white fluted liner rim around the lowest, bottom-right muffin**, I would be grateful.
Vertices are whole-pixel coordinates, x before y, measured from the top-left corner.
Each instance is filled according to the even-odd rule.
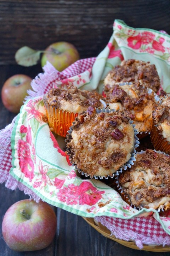
[[[157,150],[153,149],[153,151],[155,151],[156,153],[159,153],[159,154],[164,154],[165,156],[169,156],[169,154],[166,154],[165,152],[160,151],[160,150],[157,151]],[[137,155],[137,154],[143,154],[143,153],[145,153],[145,152],[146,152],[145,150],[141,150],[140,152],[137,152],[136,155]],[[121,187],[120,184],[119,184],[119,175],[118,175],[117,177],[115,177],[115,183],[117,184],[117,188],[118,188],[118,190],[119,190],[119,193],[120,193],[120,194],[122,194],[122,193],[125,194],[125,195],[124,195],[124,197],[126,198],[125,201],[126,201],[132,208],[137,209],[137,210],[140,210],[140,209],[143,209],[143,208],[144,208],[144,207],[140,207],[140,208],[139,208],[139,207],[136,207],[134,204],[131,203],[128,194],[123,191],[122,187]],[[157,209],[158,212],[160,212],[160,211],[164,212],[164,210],[165,210],[164,207]]]

